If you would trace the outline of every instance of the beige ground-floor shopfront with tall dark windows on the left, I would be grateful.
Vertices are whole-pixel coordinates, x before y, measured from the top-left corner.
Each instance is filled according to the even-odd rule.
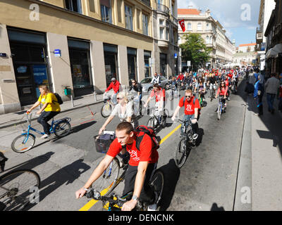
[[[157,67],[149,63],[154,57],[151,37],[66,11],[40,10],[36,23],[20,20],[30,12],[28,7],[11,6],[13,13],[1,16],[0,114],[35,103],[42,84],[66,101],[71,97],[64,95],[66,87],[73,97],[99,94],[112,77],[128,86],[130,79],[152,76]],[[72,19],[66,20],[68,16]]]

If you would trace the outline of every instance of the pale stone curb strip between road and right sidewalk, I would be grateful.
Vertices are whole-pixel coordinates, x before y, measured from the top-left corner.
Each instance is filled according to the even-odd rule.
[[[252,211],[252,112],[245,105],[242,143],[233,211]]]

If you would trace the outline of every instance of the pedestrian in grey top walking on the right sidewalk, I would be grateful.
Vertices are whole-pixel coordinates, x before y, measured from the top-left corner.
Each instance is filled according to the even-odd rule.
[[[277,90],[280,86],[280,81],[276,78],[276,73],[271,74],[271,78],[267,79],[264,89],[266,91],[267,104],[269,105],[269,112],[274,114],[274,99]]]

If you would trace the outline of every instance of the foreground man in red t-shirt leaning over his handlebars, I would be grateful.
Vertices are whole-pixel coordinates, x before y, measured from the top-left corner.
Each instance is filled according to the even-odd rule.
[[[82,188],[75,192],[75,197],[77,199],[82,198],[82,196],[85,195],[88,188],[90,188],[94,181],[96,181],[99,176],[103,174],[104,170],[109,167],[116,155],[125,149],[130,153],[130,160],[128,169],[125,173],[123,195],[133,191],[133,198],[124,203],[121,210],[133,210],[138,199],[140,199],[141,202],[152,204],[149,205],[149,208],[157,206],[154,204],[157,200],[157,194],[152,190],[149,181],[154,169],[157,168],[159,154],[148,134],[142,136],[138,149],[138,135],[137,132],[133,131],[133,126],[129,122],[121,122],[118,124],[118,127],[116,127],[116,139],[111,143],[102,162],[100,162],[98,167],[94,169],[90,179],[88,179]],[[140,138],[140,136],[138,136],[138,138]]]

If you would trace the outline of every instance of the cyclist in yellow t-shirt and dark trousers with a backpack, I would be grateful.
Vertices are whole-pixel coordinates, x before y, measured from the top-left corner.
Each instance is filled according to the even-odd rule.
[[[40,115],[37,122],[42,124],[45,133],[41,139],[46,139],[51,134],[51,125],[48,123],[48,121],[51,120],[55,115],[58,115],[61,112],[61,108],[55,94],[51,93],[46,85],[39,86],[39,91],[40,96],[37,102],[32,105],[32,108],[27,110],[27,113],[30,113],[33,109],[37,108],[40,103],[44,104],[36,114]]]

